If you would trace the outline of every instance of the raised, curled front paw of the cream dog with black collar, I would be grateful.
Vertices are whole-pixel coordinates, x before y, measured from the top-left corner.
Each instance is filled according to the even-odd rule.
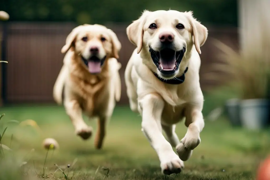
[[[201,143],[200,133],[197,127],[189,127],[187,134],[176,146],[176,151],[183,161],[187,161],[194,150]]]

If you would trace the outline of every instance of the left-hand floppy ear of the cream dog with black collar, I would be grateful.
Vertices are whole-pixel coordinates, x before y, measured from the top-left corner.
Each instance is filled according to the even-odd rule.
[[[141,52],[141,48],[143,47],[143,26],[146,21],[146,16],[150,13],[150,11],[144,10],[141,17],[136,21],[133,21],[127,29],[127,37],[129,41],[137,46],[137,53]]]

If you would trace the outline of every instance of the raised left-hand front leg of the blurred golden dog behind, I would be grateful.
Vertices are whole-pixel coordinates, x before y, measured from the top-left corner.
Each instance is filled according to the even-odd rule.
[[[66,113],[75,128],[75,133],[83,140],[87,140],[92,135],[92,127],[89,127],[82,117],[82,109],[77,100],[65,100]]]

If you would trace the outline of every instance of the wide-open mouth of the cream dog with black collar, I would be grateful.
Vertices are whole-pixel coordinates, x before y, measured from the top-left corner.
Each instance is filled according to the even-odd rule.
[[[175,51],[170,48],[164,48],[161,51],[155,51],[151,47],[149,52],[157,69],[163,74],[172,74],[178,70],[180,62],[184,56],[186,48]]]

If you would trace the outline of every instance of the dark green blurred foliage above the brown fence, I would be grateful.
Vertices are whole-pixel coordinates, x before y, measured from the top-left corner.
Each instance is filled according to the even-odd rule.
[[[10,21],[130,23],[144,9],[194,11],[203,23],[237,26],[237,0],[2,0]]]

